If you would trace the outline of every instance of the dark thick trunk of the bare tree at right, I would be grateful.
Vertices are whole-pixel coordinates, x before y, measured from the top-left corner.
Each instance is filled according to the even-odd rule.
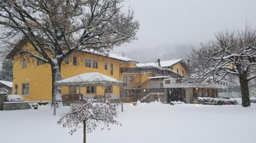
[[[248,80],[245,76],[240,76],[240,87],[242,94],[242,106],[248,107],[250,106],[250,97],[249,97],[249,88],[248,88]]]

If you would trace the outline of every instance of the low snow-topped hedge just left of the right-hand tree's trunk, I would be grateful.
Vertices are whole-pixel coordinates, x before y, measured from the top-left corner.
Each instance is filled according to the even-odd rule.
[[[210,97],[198,97],[196,99],[199,104],[205,104],[208,103],[215,103],[216,105],[236,105],[238,104],[237,100],[229,100],[229,99],[223,99],[223,98],[210,98]]]

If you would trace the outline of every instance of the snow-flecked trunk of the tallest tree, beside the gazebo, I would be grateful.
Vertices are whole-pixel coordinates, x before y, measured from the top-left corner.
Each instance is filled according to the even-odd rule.
[[[60,74],[61,66],[60,64],[54,64],[54,65],[51,65],[51,69],[52,69],[52,103],[54,103],[54,91],[56,92],[55,94],[56,101],[62,101],[61,87],[59,85],[55,86],[55,82],[58,80],[61,80],[61,74]]]

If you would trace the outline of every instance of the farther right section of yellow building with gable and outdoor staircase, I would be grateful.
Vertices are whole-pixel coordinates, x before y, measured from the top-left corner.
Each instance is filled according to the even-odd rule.
[[[121,68],[123,76],[124,97],[132,101],[145,102],[166,101],[163,91],[163,79],[183,78],[187,75],[187,65],[184,60],[169,60],[137,64],[136,67]],[[131,78],[132,81],[131,82]],[[126,81],[126,82],[125,82]]]

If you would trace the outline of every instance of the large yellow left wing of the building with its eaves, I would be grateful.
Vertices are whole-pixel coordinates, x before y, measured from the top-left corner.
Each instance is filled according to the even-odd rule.
[[[23,49],[32,48],[30,43],[24,43]],[[14,49],[7,56],[13,59],[13,94],[23,95],[27,101],[51,101],[52,77],[51,66],[39,60],[13,54]],[[69,78],[82,73],[98,72],[115,79],[120,79],[120,67],[136,66],[138,62],[110,53],[109,55],[95,54],[87,51],[73,52],[61,65],[61,78]],[[95,88],[95,89],[94,89]],[[120,87],[108,87],[108,94],[115,98],[120,96]],[[64,94],[103,95],[102,87],[84,87],[81,91],[74,87],[62,87]]]

